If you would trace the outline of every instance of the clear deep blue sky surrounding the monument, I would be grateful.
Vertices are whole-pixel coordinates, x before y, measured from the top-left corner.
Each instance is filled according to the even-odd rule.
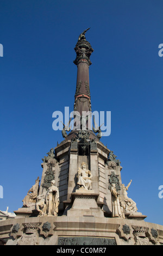
[[[163,224],[163,2],[150,0],[1,0],[0,209],[12,212],[42,175],[42,157],[61,131],[52,113],[73,110],[74,47],[86,39],[91,56],[92,111],[111,111],[111,135],[101,141],[120,159],[122,182],[146,221]]]

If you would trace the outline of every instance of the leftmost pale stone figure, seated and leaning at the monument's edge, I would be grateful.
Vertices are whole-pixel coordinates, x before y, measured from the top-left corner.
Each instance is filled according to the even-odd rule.
[[[27,193],[27,196],[24,197],[23,201],[23,206],[24,207],[30,207],[33,203],[36,203],[36,198],[39,193],[39,177],[35,180],[35,185],[33,185],[30,190]]]

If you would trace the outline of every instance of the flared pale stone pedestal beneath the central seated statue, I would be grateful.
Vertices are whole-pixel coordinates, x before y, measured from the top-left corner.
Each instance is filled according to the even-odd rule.
[[[93,190],[76,190],[71,194],[72,208],[67,211],[67,216],[104,217],[103,211],[97,205],[98,196]]]

